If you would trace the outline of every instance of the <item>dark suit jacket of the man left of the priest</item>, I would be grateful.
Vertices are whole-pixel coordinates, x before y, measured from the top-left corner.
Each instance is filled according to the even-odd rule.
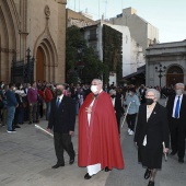
[[[48,128],[54,128],[54,132],[69,133],[74,131],[75,104],[71,97],[63,95],[59,107],[56,105],[57,97],[51,100],[51,108]]]

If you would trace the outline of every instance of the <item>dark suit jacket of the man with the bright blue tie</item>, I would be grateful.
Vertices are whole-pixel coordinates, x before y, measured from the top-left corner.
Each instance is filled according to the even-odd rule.
[[[168,121],[171,124],[172,115],[173,115],[173,107],[174,107],[174,100],[176,95],[170,95],[167,103],[166,103],[166,109],[167,109],[167,117]],[[183,94],[181,108],[179,108],[179,124],[186,127],[186,95]]]

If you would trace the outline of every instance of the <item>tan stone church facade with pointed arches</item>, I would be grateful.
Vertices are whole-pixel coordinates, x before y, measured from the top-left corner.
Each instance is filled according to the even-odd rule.
[[[34,57],[34,80],[63,82],[67,0],[0,1],[0,80],[11,81],[12,59]]]

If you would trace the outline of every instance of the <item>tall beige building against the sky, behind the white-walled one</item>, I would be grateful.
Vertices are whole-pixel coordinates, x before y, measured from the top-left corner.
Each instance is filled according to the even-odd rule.
[[[150,44],[159,42],[159,30],[137,15],[137,11],[132,8],[123,9],[123,13],[109,19],[109,22],[128,26],[131,37],[142,46],[143,54]]]

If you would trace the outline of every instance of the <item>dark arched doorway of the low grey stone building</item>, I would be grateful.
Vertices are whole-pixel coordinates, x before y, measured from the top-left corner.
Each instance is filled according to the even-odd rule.
[[[166,85],[172,86],[176,83],[184,83],[184,68],[179,65],[172,63],[166,70]]]

